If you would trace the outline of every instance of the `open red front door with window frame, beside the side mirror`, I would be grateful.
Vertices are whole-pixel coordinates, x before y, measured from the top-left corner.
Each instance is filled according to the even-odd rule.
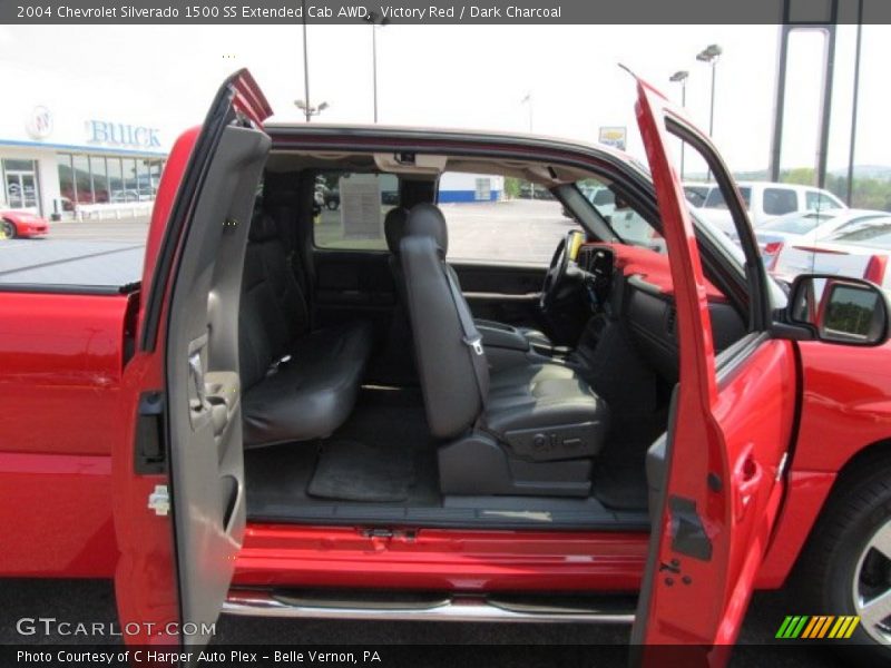
[[[656,186],[677,310],[679,383],[666,440],[649,453],[653,533],[633,631],[637,661],[692,646],[686,665],[722,665],[735,641],[783,494],[799,392],[795,351],[771,338],[766,276],[742,199],[711,141],[638,80],[637,120]],[[668,134],[721,186],[746,254],[750,332],[715,356],[697,236]],[[687,154],[689,156],[689,153]],[[702,233],[699,233],[702,234]],[[723,647],[722,647],[723,646]]]

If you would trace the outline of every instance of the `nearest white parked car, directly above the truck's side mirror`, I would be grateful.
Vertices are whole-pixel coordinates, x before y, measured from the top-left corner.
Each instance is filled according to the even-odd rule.
[[[781,248],[773,274],[791,283],[799,274],[830,274],[866,278],[891,289],[891,215],[870,217],[819,240],[787,242]]]

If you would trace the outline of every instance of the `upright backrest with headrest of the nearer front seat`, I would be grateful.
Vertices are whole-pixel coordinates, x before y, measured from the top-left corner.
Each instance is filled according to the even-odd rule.
[[[432,204],[413,207],[399,256],[427,420],[438,439],[470,429],[489,392],[486,356],[479,343],[476,351],[471,345],[479,335],[458,277],[446,263],[447,249],[442,212]],[[467,333],[468,327],[473,331]]]

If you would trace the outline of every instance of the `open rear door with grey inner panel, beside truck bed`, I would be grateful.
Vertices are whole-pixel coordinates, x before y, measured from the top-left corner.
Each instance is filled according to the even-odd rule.
[[[112,442],[115,587],[130,644],[200,645],[245,527],[238,302],[271,114],[246,70],[174,146],[153,213]]]

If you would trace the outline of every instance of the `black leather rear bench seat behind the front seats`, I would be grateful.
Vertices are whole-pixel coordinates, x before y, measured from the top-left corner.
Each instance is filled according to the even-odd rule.
[[[246,448],[330,435],[355,405],[369,323],[309,332],[306,302],[275,220],[254,216],[245,254],[239,356]]]

